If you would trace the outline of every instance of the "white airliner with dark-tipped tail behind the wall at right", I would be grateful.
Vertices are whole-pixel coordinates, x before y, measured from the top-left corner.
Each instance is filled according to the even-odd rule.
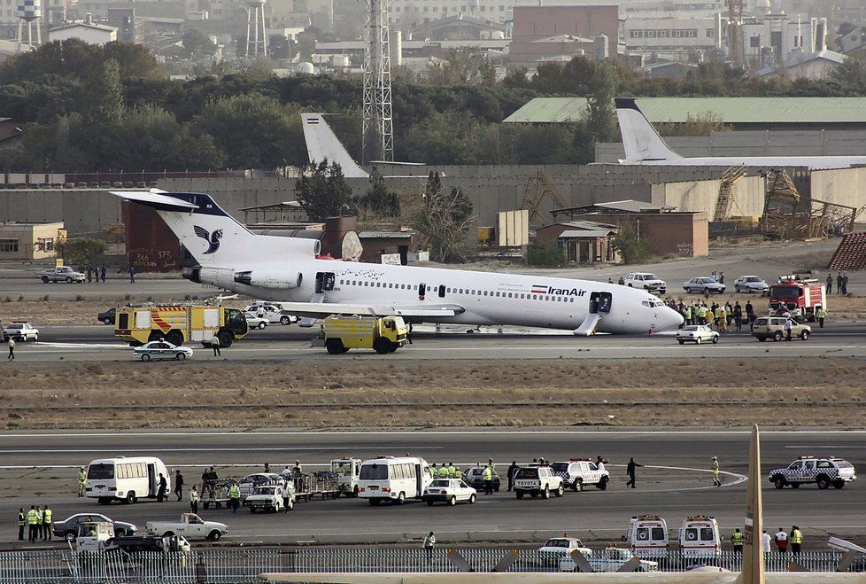
[[[700,156],[685,158],[661,139],[634,99],[617,97],[625,159],[620,164],[682,167],[808,167],[847,168],[866,164],[866,156]]]

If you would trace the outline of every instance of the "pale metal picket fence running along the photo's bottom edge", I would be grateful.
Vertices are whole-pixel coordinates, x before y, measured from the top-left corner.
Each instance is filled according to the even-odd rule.
[[[835,572],[841,554],[803,552],[796,562],[809,572]],[[504,558],[514,561],[500,562]],[[768,572],[791,569],[791,554],[766,555]],[[717,565],[738,572],[742,556],[731,551],[712,560],[672,553],[660,569],[682,572],[690,565]],[[16,551],[0,553],[0,584],[241,584],[259,582],[262,572],[556,572],[535,549],[210,549],[189,552]],[[850,570],[863,569],[862,562]],[[614,572],[615,568],[609,571]]]

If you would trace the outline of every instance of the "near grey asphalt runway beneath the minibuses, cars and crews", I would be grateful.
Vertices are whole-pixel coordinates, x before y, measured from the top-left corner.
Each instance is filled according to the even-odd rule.
[[[110,426],[110,421],[106,421]],[[834,454],[845,456],[862,468],[866,432],[773,431],[762,432],[763,474],[787,465],[797,456]],[[101,456],[148,454],[160,456],[181,469],[187,486],[197,482],[203,468],[216,465],[220,476],[243,476],[300,460],[305,470],[324,468],[331,458],[360,458],[406,452],[430,463],[455,463],[466,468],[489,457],[501,473],[512,460],[601,455],[609,460],[611,484],[607,491],[589,488],[568,492],[562,498],[517,501],[504,488],[498,494],[479,496],[475,505],[428,507],[420,502],[403,506],[371,507],[359,499],[300,502],[289,514],[250,515],[240,510],[200,510],[205,518],[229,526],[224,541],[230,543],[409,543],[434,530],[440,541],[538,542],[548,536],[569,535],[597,541],[618,541],[629,518],[659,514],[677,529],[691,514],[713,515],[730,533],[742,527],[748,432],[707,429],[701,431],[606,431],[579,428],[526,428],[521,430],[423,430],[371,432],[4,432],[0,478],[4,497],[0,513],[14,517],[20,506],[50,503],[55,517],[74,512],[104,512],[115,519],[143,527],[151,519],[174,518],[186,510],[186,502],[140,502],[104,507],[74,497],[75,466]],[[646,466],[638,469],[638,488],[624,485],[624,465],[630,456]],[[710,456],[722,463],[725,486],[711,487]],[[44,465],[32,469],[31,465]],[[236,465],[236,466],[230,466]],[[766,480],[766,479],[765,479]],[[23,485],[21,483],[23,482]],[[19,490],[14,485],[25,489]],[[61,488],[58,488],[60,486]],[[810,549],[822,549],[828,533],[855,541],[866,540],[862,515],[862,480],[841,490],[816,487],[778,491],[764,483],[764,517],[775,529],[793,524],[803,528]],[[23,492],[22,492],[23,491]],[[35,493],[35,494],[30,494]],[[777,525],[778,524],[778,525]],[[12,533],[11,530],[7,533]],[[11,543],[8,536],[4,539]],[[539,543],[540,545],[540,543]]]

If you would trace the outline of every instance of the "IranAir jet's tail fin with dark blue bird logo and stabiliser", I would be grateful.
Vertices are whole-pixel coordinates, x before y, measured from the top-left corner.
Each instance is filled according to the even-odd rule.
[[[166,222],[200,266],[244,266],[262,261],[278,265],[319,253],[317,239],[252,233],[216,204],[195,192],[111,191],[122,199],[150,206]]]

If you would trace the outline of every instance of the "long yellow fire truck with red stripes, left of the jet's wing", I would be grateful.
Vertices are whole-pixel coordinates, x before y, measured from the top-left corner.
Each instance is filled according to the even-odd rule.
[[[205,347],[216,340],[220,347],[231,347],[232,341],[249,331],[244,313],[237,308],[191,304],[120,307],[114,323],[114,336],[132,347],[159,339],[177,346],[200,342]]]

